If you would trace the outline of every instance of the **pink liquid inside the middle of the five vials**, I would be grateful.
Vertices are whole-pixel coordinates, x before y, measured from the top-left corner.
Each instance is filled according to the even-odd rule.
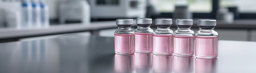
[[[172,54],[172,36],[153,35],[153,53],[157,55]]]

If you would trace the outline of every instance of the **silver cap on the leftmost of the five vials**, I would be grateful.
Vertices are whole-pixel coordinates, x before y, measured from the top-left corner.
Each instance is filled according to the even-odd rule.
[[[117,25],[132,25],[133,19],[117,19],[116,24]]]

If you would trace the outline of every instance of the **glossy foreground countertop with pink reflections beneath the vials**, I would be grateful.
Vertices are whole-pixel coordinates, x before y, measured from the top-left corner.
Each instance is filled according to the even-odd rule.
[[[256,73],[256,42],[219,40],[218,58],[117,55],[114,37],[66,35],[0,43],[1,73]]]

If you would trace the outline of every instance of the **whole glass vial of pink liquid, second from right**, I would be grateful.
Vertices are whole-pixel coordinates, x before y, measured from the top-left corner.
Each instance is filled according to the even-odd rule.
[[[193,20],[176,19],[176,25],[178,30],[173,33],[173,54],[180,57],[193,56],[194,31],[190,30]]]

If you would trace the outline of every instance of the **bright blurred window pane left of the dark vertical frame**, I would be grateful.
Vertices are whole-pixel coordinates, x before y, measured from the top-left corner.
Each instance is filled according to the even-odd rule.
[[[191,12],[210,13],[212,11],[212,0],[151,0],[161,12],[173,12],[175,4],[187,2]]]

